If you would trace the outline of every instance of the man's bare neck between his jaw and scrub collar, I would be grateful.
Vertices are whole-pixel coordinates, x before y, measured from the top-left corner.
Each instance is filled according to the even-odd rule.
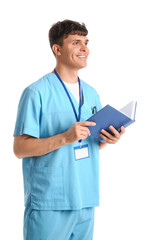
[[[70,69],[66,68],[65,66],[56,66],[56,72],[60,76],[63,82],[68,83],[77,83],[78,82],[78,70],[77,69]],[[53,71],[54,73],[54,71]]]

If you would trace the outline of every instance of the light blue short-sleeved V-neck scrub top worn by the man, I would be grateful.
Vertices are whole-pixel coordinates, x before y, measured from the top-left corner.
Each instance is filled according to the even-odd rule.
[[[101,109],[96,90],[81,80],[83,103],[81,119]],[[69,89],[68,89],[69,91]],[[76,112],[79,104],[69,91]],[[28,134],[47,138],[67,131],[76,118],[67,94],[58,78],[48,73],[28,86],[20,99],[14,136]],[[89,157],[75,160],[74,147],[65,145],[46,155],[23,158],[25,206],[38,210],[79,210],[99,205],[99,143],[92,136]]]

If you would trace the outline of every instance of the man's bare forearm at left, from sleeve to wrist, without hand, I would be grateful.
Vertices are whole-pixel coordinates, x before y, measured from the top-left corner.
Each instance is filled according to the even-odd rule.
[[[66,144],[65,133],[48,138],[34,138],[29,135],[16,136],[14,153],[18,158],[42,156]]]

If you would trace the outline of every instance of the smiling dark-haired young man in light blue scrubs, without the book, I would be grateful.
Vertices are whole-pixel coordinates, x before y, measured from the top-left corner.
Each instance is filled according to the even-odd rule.
[[[85,121],[101,109],[94,88],[78,78],[89,50],[84,24],[65,20],[49,31],[56,67],[27,87],[20,99],[14,153],[23,158],[25,240],[91,240],[94,207],[99,205],[99,149]],[[83,157],[82,157],[83,156]]]

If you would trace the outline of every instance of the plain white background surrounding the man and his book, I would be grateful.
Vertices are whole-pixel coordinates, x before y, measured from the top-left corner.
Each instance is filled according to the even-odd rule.
[[[88,67],[79,76],[97,89],[102,105],[138,101],[136,123],[100,152],[94,240],[160,239],[159,13],[155,0],[3,1],[0,239],[22,239],[21,160],[12,152],[18,101],[26,86],[53,70],[48,30],[64,19],[89,30]]]

